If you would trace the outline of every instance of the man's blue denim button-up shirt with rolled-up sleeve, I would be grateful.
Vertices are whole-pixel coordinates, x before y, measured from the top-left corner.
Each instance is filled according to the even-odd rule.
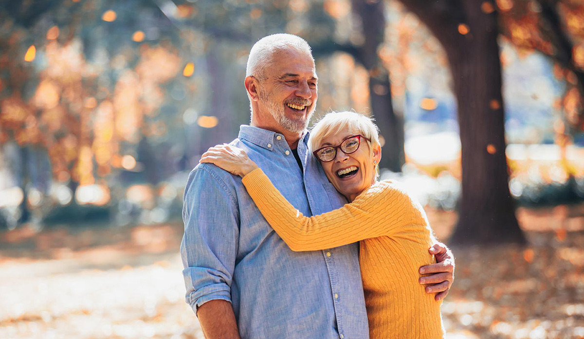
[[[304,172],[283,135],[242,125],[231,145],[244,149],[304,215],[346,203],[298,142]],[[304,173],[304,174],[303,174]],[[369,338],[356,243],[291,251],[263,218],[241,178],[210,164],[193,169],[185,188],[180,246],[186,302],[231,302],[248,338]]]

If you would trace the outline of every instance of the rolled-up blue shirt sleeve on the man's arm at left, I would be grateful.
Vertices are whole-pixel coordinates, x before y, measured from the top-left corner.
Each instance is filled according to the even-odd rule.
[[[231,281],[237,256],[239,214],[234,188],[199,165],[190,174],[183,197],[185,234],[180,244],[186,302],[197,307],[209,300],[231,302]]]

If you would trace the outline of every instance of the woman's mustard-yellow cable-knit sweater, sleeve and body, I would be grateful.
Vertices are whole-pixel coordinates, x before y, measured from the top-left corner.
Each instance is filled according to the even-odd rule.
[[[435,263],[422,207],[391,181],[381,181],[334,211],[303,216],[261,169],[242,180],[267,222],[293,251],[360,241],[359,263],[371,339],[442,338],[440,305],[418,283]],[[342,298],[342,296],[341,296]]]

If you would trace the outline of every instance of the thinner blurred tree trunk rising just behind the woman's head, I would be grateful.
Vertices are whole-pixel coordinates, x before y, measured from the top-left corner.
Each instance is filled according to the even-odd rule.
[[[404,118],[394,112],[390,75],[377,53],[385,40],[385,5],[383,1],[363,0],[353,0],[352,5],[363,28],[364,43],[358,49],[358,60],[369,71],[371,110],[385,141],[379,165],[392,172],[401,172],[405,163]]]

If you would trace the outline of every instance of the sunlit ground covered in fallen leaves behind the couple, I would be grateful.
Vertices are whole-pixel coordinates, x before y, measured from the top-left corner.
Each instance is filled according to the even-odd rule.
[[[445,239],[456,215],[428,211]],[[454,248],[447,338],[584,338],[581,207],[518,212],[529,246]],[[182,224],[0,233],[0,338],[203,338]]]

